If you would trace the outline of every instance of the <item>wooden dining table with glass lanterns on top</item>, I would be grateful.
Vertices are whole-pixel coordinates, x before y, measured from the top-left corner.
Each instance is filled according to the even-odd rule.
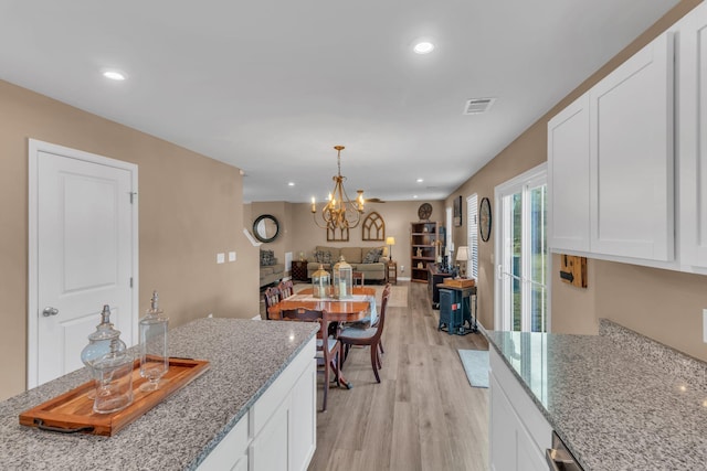
[[[314,288],[305,288],[270,307],[267,314],[271,320],[281,320],[281,311],[283,309],[298,308],[326,311],[327,320],[337,323],[357,322],[367,318],[374,322],[377,317],[376,289],[365,286],[352,287],[350,298],[337,299],[333,297],[315,298]],[[347,389],[352,388],[354,385],[346,381],[341,368],[336,367],[336,365],[331,366],[337,372],[338,383]]]

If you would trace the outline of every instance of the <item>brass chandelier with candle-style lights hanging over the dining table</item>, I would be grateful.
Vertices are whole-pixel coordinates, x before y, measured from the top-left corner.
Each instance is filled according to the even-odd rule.
[[[349,196],[344,190],[344,180],[346,176],[341,175],[341,151],[344,146],[334,146],[337,150],[337,165],[339,172],[331,178],[334,180],[334,191],[329,193],[327,204],[321,208],[319,221],[317,221],[317,205],[314,196],[312,197],[312,215],[317,226],[326,229],[349,229],[358,226],[361,221],[361,214],[363,214],[363,190],[357,190],[358,196],[356,200],[349,200]]]

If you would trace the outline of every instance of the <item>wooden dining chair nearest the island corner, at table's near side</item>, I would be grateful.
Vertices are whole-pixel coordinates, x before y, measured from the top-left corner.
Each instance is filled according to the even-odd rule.
[[[327,395],[329,392],[329,372],[333,371],[337,386],[339,385],[339,372],[341,368],[341,343],[329,335],[329,324],[333,323],[327,311],[317,311],[305,308],[283,309],[279,311],[282,320],[319,322],[317,332],[317,366],[324,371],[324,400],[321,411],[327,409]]]

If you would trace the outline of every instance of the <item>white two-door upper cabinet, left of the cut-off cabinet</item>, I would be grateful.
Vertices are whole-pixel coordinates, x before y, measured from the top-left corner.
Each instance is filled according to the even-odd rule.
[[[671,31],[549,121],[552,250],[674,259],[673,62]]]

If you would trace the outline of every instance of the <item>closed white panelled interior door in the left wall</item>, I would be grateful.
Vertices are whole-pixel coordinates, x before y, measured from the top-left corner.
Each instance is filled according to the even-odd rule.
[[[29,387],[83,366],[103,304],[137,341],[136,188],[137,165],[30,142]]]

